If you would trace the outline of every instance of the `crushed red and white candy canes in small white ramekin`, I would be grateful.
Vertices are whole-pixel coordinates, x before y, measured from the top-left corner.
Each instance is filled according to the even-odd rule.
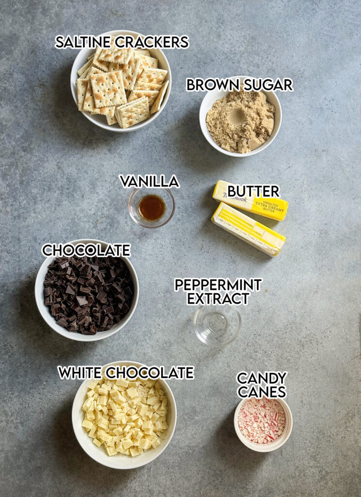
[[[248,399],[238,413],[238,426],[250,442],[273,442],[282,435],[285,425],[286,414],[275,399]]]

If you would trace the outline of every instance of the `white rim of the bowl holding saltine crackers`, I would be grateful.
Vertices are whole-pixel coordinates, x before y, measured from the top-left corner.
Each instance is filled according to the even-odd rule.
[[[141,34],[141,33],[138,33],[137,31],[127,31],[127,30],[121,30],[121,29],[114,29],[112,31],[106,31],[105,33],[101,33],[100,35],[98,36],[103,36],[103,35],[112,35],[112,36],[116,36],[116,35],[120,35],[120,34],[130,34],[130,35],[135,35],[135,36],[142,36],[144,38],[145,35]],[[152,49],[150,49],[152,50]],[[149,119],[146,119],[145,121],[142,121],[141,123],[138,123],[138,124],[134,124],[133,126],[129,126],[129,128],[115,128],[114,126],[109,126],[109,124],[107,123],[103,123],[103,122],[100,122],[100,121],[97,121],[96,119],[93,118],[93,116],[91,114],[89,114],[89,112],[85,112],[85,111],[81,111],[81,113],[83,114],[83,116],[85,116],[92,124],[95,124],[96,126],[99,126],[100,128],[103,128],[103,129],[106,129],[108,131],[113,131],[115,133],[129,133],[130,131],[136,131],[137,129],[140,129],[140,128],[143,128],[144,126],[146,126],[147,124],[150,124],[152,121],[154,121],[158,115],[162,112],[162,110],[164,109],[164,107],[166,106],[167,102],[168,102],[168,98],[171,94],[171,87],[172,87],[172,72],[171,72],[171,66],[169,65],[169,62],[168,62],[168,59],[166,57],[166,55],[164,54],[163,50],[160,49],[160,48],[157,48],[157,49],[154,49],[154,50],[160,50],[160,52],[162,53],[163,57],[165,58],[165,61],[166,61],[166,69],[168,71],[168,74],[166,76],[166,79],[165,81],[169,81],[169,84],[168,84],[168,88],[166,89],[166,92],[165,92],[165,95],[163,97],[163,101],[162,101],[162,105],[161,105],[161,108],[155,112],[153,115],[151,115],[151,117]],[[82,56],[84,54],[85,51],[92,51],[92,49],[89,49],[89,48],[82,48],[79,50],[78,54],[76,55],[75,59],[74,59],[74,62],[71,66],[71,70],[70,70],[70,90],[71,90],[71,94],[73,96],[73,99],[74,99],[74,102],[75,102],[75,105],[77,106],[77,96],[76,96],[76,93],[75,93],[75,86],[73,84],[73,74],[75,73],[75,75],[77,76],[77,71],[80,69],[80,65],[79,65],[79,60],[82,59]],[[78,76],[77,76],[78,78]],[[76,79],[75,78],[75,81]],[[167,80],[168,78],[168,80]]]

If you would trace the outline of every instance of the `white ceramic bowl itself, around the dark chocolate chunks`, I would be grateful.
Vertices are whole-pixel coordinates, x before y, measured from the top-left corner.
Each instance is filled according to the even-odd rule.
[[[80,243],[83,244],[89,244],[89,243],[100,243],[102,245],[102,248],[106,247],[106,242],[102,242],[101,240],[74,240],[73,242],[69,242],[70,244],[77,245]],[[128,313],[124,316],[124,318],[113,328],[107,331],[98,331],[95,335],[83,335],[81,333],[76,333],[72,331],[67,331],[65,328],[62,328],[57,324],[53,316],[50,314],[48,307],[44,304],[44,296],[43,296],[43,290],[44,290],[44,279],[45,275],[48,272],[48,266],[53,262],[53,260],[56,257],[46,257],[42,265],[40,266],[40,269],[38,271],[38,275],[35,280],[35,300],[36,300],[36,305],[38,306],[39,312],[42,315],[44,321],[51,327],[53,328],[54,331],[59,333],[62,336],[66,336],[66,338],[70,338],[71,340],[76,340],[76,341],[95,341],[95,340],[102,340],[103,338],[107,338],[108,336],[114,335],[114,333],[117,333],[117,331],[121,330],[123,326],[126,325],[126,323],[129,321],[129,319],[132,317],[134,314],[135,308],[138,303],[138,297],[139,297],[139,282],[138,282],[138,277],[136,275],[135,269],[133,267],[133,264],[130,262],[130,260],[126,257],[123,257],[123,261],[125,262],[127,268],[129,269],[129,273],[133,282],[133,287],[134,287],[134,297],[133,297],[133,302],[131,304],[131,307],[128,311]]]

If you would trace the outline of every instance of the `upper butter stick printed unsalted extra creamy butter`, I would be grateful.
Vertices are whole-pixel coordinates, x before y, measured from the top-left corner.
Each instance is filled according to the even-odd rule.
[[[252,196],[227,198],[227,186],[233,184],[227,181],[217,181],[213,191],[213,198],[218,202],[225,202],[232,207],[237,207],[243,211],[253,212],[259,216],[283,221],[287,214],[288,202],[280,198],[263,198],[256,197],[256,192],[252,192]]]

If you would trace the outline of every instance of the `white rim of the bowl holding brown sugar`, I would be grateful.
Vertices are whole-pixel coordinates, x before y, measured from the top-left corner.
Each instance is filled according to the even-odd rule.
[[[252,76],[231,76],[228,79],[230,79],[232,81],[235,81],[236,79],[240,79],[241,83],[243,83],[243,81],[244,81],[245,78],[253,78],[253,77]],[[262,143],[262,145],[260,145],[256,149],[251,150],[250,152],[246,152],[245,154],[241,154],[241,153],[239,154],[237,152],[229,152],[228,150],[222,149],[219,145],[217,145],[213,141],[213,139],[212,139],[212,137],[209,134],[209,131],[207,129],[206,117],[207,117],[207,113],[210,110],[210,108],[212,107],[214,101],[212,102],[212,105],[209,108],[206,109],[206,111],[205,111],[205,118],[204,119],[202,118],[202,112],[204,111],[204,109],[206,108],[206,106],[208,106],[208,104],[206,105],[206,103],[205,103],[205,99],[206,99],[207,95],[211,93],[211,94],[214,94],[216,96],[216,95],[219,95],[221,92],[223,92],[223,90],[214,89],[214,90],[209,90],[209,91],[207,91],[205,93],[205,95],[204,95],[204,97],[202,99],[202,103],[200,104],[200,107],[199,107],[199,124],[200,124],[200,128],[202,130],[204,138],[207,140],[207,142],[210,145],[212,145],[213,148],[215,148],[216,150],[218,150],[218,152],[221,152],[222,154],[228,155],[230,157],[239,157],[239,158],[250,157],[252,155],[258,154],[259,152],[262,152],[262,150],[265,150],[273,142],[273,140],[276,138],[276,136],[278,135],[278,132],[279,132],[279,130],[281,128],[281,124],[282,124],[282,107],[281,107],[281,103],[280,103],[280,100],[279,100],[279,98],[278,98],[278,96],[277,96],[277,94],[276,94],[275,91],[273,91],[273,90],[269,90],[269,91],[262,90],[262,91],[263,91],[263,93],[266,94],[266,96],[271,93],[275,97],[276,102],[277,102],[277,106],[278,106],[278,108],[276,108],[276,112],[278,111],[279,114],[280,114],[280,122],[278,124],[277,129],[274,128],[272,130],[271,136],[268,138],[268,140],[266,140],[264,143]],[[228,93],[230,93],[230,91]],[[218,98],[221,98],[221,97],[218,97]]]

